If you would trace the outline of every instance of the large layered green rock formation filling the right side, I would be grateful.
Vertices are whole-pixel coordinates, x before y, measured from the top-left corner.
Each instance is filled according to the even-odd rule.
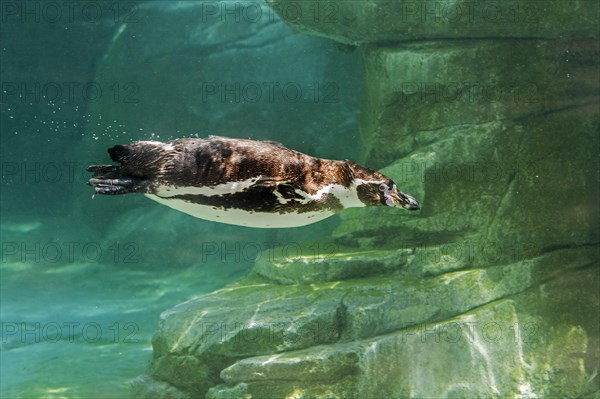
[[[346,211],[164,312],[132,397],[595,397],[598,4],[272,5],[363,45],[361,161],[422,211]]]

